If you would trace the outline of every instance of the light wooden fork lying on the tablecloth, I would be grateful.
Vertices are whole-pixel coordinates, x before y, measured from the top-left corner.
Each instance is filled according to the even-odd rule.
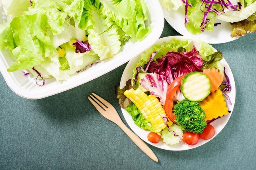
[[[93,95],[93,96],[92,96]],[[109,102],[98,96],[97,94],[92,93],[92,95],[88,96],[92,105],[104,116],[106,119],[117,124],[125,133],[132,139],[132,141],[146,154],[148,157],[158,162],[157,156],[153,151],[148,147],[148,145],[143,142],[135,133],[133,133],[121,120],[119,114],[115,107],[113,107]]]

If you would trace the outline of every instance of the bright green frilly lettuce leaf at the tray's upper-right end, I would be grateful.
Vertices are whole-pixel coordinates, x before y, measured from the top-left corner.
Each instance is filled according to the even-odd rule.
[[[103,13],[124,31],[129,41],[141,41],[151,32],[152,28],[145,24],[147,7],[143,0],[100,0],[100,2],[103,4]]]

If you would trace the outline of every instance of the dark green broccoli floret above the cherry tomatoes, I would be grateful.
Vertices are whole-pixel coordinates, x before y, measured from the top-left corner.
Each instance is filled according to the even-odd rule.
[[[175,122],[189,132],[202,133],[207,125],[205,112],[198,102],[178,101],[173,107],[173,114],[177,116]]]

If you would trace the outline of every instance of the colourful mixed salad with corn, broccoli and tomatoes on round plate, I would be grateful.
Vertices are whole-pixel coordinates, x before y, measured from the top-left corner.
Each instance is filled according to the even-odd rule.
[[[200,146],[221,131],[214,122],[231,114],[234,96],[229,93],[235,87],[228,65],[222,52],[203,41],[195,46],[181,36],[165,40],[128,63],[130,73],[125,70],[123,76],[130,79],[126,76],[125,86],[115,87],[116,96],[123,113],[144,129],[140,135],[146,134],[146,142]]]

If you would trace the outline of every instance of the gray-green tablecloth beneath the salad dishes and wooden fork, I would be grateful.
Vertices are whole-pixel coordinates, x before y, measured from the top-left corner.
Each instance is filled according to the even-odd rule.
[[[166,22],[161,37],[171,35],[179,33]],[[40,100],[16,95],[0,74],[0,169],[256,169],[256,33],[213,47],[223,52],[234,74],[231,118],[219,135],[198,148],[167,151],[150,146],[159,163],[87,99],[91,92],[100,94],[124,120],[115,85],[127,63]]]

